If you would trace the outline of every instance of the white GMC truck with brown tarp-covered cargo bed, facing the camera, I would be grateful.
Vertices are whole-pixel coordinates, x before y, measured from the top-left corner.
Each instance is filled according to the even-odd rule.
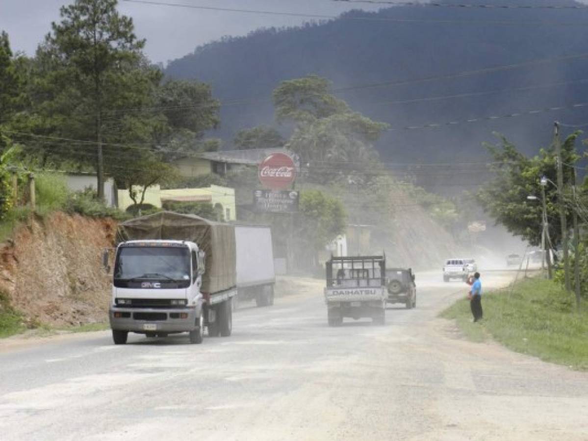
[[[115,344],[129,332],[188,332],[191,343],[232,332],[235,227],[162,212],[119,227],[109,319]],[[105,264],[108,262],[105,255]]]

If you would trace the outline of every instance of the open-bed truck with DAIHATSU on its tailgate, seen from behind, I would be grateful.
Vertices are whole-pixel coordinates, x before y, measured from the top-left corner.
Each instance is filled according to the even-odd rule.
[[[386,322],[386,258],[382,256],[331,257],[326,262],[325,302],[329,326],[343,318]]]

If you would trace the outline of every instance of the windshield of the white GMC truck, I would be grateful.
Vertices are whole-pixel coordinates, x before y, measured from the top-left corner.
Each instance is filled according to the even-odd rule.
[[[189,280],[190,253],[188,248],[124,247],[116,258],[114,277],[158,280]]]

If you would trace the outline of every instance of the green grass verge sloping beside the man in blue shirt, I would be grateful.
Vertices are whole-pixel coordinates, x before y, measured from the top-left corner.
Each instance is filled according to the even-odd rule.
[[[482,297],[484,318],[472,323],[467,299],[441,313],[454,319],[472,341],[493,338],[513,351],[574,369],[588,370],[588,311],[575,311],[572,293],[559,284],[532,278]]]

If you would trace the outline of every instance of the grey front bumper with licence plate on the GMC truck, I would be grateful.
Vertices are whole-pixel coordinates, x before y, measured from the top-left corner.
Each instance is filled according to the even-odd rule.
[[[189,332],[199,325],[198,308],[119,308],[109,309],[111,328],[138,334]]]

